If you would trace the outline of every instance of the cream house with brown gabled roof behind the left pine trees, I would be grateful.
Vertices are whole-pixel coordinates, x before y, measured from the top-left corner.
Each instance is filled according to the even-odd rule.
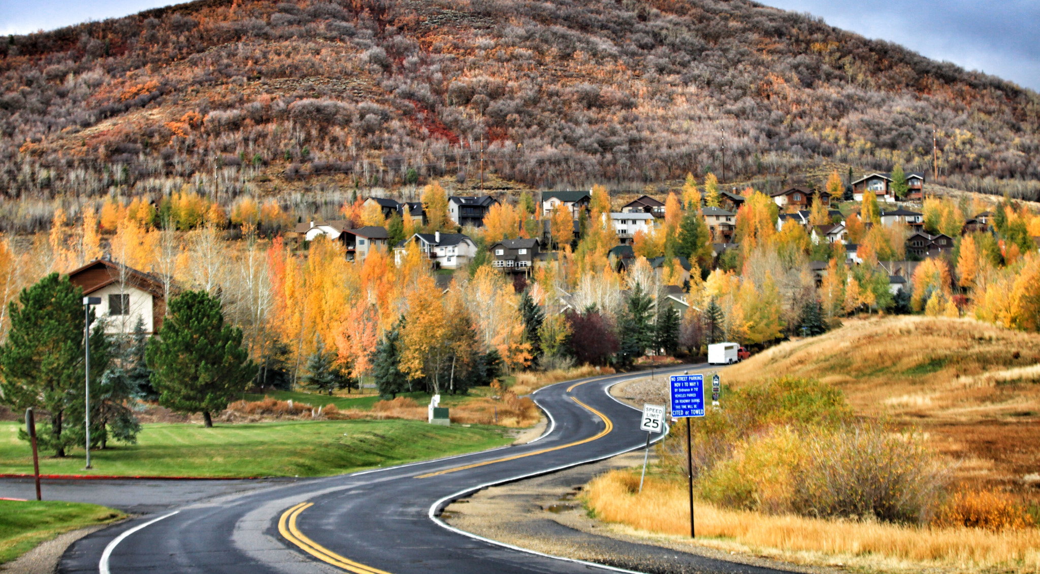
[[[159,278],[107,259],[96,259],[69,273],[69,281],[83,289],[84,296],[100,297],[95,316],[106,319],[105,333],[129,335],[145,322],[145,332],[155,335],[166,314],[166,299]]]

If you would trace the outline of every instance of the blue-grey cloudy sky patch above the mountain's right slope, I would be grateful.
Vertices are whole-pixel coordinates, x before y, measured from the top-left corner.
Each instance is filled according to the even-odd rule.
[[[759,0],[1040,90],[1040,2]]]

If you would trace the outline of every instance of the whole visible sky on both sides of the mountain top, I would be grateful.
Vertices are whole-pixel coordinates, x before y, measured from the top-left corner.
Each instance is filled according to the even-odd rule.
[[[759,1],[820,16],[832,26],[1040,90],[1040,0]],[[168,0],[0,0],[0,33],[49,30],[167,4]]]

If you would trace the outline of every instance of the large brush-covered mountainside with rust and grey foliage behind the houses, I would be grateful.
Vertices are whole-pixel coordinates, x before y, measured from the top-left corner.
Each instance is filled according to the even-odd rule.
[[[779,186],[931,172],[933,125],[942,182],[1040,189],[1036,93],[746,0],[200,0],[11,36],[0,94],[8,198],[473,182],[482,141],[531,186]]]

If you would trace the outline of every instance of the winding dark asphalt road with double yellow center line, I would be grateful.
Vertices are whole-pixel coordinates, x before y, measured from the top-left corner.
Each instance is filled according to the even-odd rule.
[[[580,380],[538,391],[534,398],[552,422],[534,443],[202,500],[80,539],[62,556],[58,572],[608,571],[478,540],[435,517],[451,500],[480,488],[643,446],[639,411],[606,393],[630,377]],[[777,572],[707,558],[698,569]]]

